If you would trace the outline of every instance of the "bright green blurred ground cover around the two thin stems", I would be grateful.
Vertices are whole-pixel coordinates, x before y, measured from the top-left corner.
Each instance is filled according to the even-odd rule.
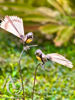
[[[11,100],[9,98],[21,98],[22,91],[18,95],[14,93],[19,92],[20,89],[20,75],[18,72],[18,58],[20,56],[20,52],[22,48],[20,48],[21,44],[17,44],[18,39],[16,37],[11,36],[11,34],[1,33],[0,37],[0,100],[4,100],[1,97],[7,97],[7,100]],[[4,41],[3,41],[4,39]],[[13,41],[14,40],[14,41]],[[38,44],[38,42],[37,42]],[[69,60],[73,62],[75,65],[75,45],[69,43],[67,46],[57,48],[53,44],[46,41],[44,44],[39,44],[40,47],[43,47],[43,52],[45,54],[51,52],[57,52],[62,55],[65,55]],[[22,47],[22,46],[21,46]],[[45,49],[44,49],[45,48]],[[35,50],[37,48],[33,48],[28,52],[23,54],[23,58],[21,61],[22,66],[22,75],[25,86],[26,99],[31,100],[32,87],[33,87],[33,79],[34,79],[34,70],[37,64],[37,60],[35,59]],[[67,52],[67,53],[66,53]],[[31,57],[30,57],[31,56]],[[10,91],[12,94],[8,93],[6,84],[10,80],[7,79],[5,87],[2,88],[5,79],[11,76],[15,82],[16,90],[12,88],[12,84],[10,84]],[[65,66],[61,66],[58,64],[52,64],[50,62],[45,64],[45,70],[41,67],[38,68],[37,72],[37,80],[35,87],[35,98],[34,100],[56,100],[56,99],[68,99],[73,100],[75,98],[75,70],[66,68]]]

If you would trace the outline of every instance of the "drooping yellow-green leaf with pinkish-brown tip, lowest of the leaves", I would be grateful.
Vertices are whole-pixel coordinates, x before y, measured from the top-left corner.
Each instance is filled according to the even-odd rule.
[[[63,43],[67,42],[74,34],[73,29],[73,26],[66,26],[64,29],[58,31],[57,37],[54,40],[55,45],[61,46]]]

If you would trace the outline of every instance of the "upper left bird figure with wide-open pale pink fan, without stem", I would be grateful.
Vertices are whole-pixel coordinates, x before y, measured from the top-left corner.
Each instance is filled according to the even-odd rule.
[[[32,32],[24,35],[23,20],[17,16],[5,16],[4,20],[0,21],[0,27],[19,37],[24,44],[33,40]]]

